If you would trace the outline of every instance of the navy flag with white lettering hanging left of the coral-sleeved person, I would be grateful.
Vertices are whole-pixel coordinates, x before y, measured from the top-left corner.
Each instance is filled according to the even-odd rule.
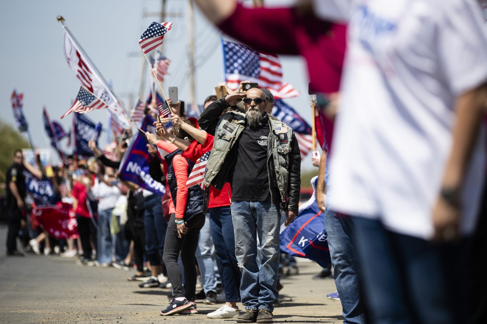
[[[139,124],[140,129],[144,132],[154,133],[155,127],[152,125],[154,119],[146,116]],[[152,179],[149,174],[150,154],[147,150],[147,140],[142,133],[132,136],[127,152],[124,154],[118,169],[119,178],[125,181],[131,181],[141,188],[152,191],[158,195],[164,195],[166,187],[158,181]]]

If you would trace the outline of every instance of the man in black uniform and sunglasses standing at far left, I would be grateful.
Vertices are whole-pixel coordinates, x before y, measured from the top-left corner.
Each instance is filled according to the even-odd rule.
[[[17,251],[17,236],[19,235],[22,211],[25,209],[25,176],[22,171],[22,151],[14,152],[14,164],[7,170],[7,209],[9,213],[7,256],[23,256]]]

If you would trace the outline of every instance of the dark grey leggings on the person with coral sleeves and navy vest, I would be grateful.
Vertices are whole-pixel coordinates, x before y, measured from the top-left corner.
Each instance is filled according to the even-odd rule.
[[[186,297],[194,301],[196,290],[196,262],[195,254],[200,237],[200,229],[205,224],[205,215],[194,216],[187,223],[187,233],[180,239],[176,228],[176,217],[171,214],[164,241],[164,263],[168,269],[169,281],[172,285],[174,298]],[[178,256],[181,252],[181,261],[184,267],[184,291],[181,284],[181,272],[179,271]]]

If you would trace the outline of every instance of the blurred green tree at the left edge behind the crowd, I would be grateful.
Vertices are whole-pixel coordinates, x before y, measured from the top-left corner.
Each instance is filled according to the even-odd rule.
[[[9,124],[0,119],[0,182],[4,183],[4,174],[13,163],[14,151],[30,148],[27,141],[20,133]],[[3,193],[4,190],[0,191]]]

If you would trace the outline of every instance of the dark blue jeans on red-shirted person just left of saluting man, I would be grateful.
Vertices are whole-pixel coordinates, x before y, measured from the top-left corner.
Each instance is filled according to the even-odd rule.
[[[240,302],[241,273],[235,256],[235,235],[230,206],[209,208],[208,212],[215,254],[222,266],[225,302]]]

